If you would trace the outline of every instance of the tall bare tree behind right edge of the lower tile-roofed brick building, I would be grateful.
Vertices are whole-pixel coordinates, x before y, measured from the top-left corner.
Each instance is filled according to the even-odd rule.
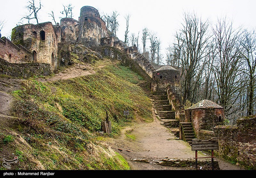
[[[224,107],[226,118],[239,110],[236,106],[241,92],[240,31],[240,29],[233,29],[232,22],[227,21],[226,18],[218,19],[217,24],[213,27],[216,54],[212,71],[216,78],[215,90],[218,101]]]

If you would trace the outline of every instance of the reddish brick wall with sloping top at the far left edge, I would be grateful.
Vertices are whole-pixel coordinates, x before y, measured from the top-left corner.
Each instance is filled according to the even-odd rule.
[[[10,57],[11,55],[11,57]],[[0,38],[0,57],[10,63],[31,63],[32,53],[23,46],[16,46],[7,38]]]

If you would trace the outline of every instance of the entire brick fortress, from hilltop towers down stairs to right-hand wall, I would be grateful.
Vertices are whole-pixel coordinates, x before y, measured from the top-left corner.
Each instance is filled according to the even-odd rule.
[[[237,126],[220,126],[224,120],[223,108],[211,101],[200,101],[185,110],[181,102],[180,72],[173,66],[155,69],[136,46],[128,47],[113,36],[98,10],[91,6],[81,8],[78,20],[63,18],[57,25],[44,22],[13,28],[11,41],[0,38],[0,73],[22,77],[49,75],[59,66],[69,64],[70,44],[102,46],[105,55],[120,60],[123,54],[127,55],[145,76],[143,86],[153,94],[158,116],[167,127],[179,128],[180,139],[189,143],[191,134],[199,139],[217,137],[221,156],[255,167],[255,116],[238,120]],[[206,107],[207,104],[211,106]]]

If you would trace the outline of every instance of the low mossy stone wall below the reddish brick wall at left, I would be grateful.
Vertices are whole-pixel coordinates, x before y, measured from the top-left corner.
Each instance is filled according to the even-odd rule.
[[[47,76],[52,74],[52,67],[49,64],[40,63],[12,64],[0,58],[0,74],[21,78],[29,78],[34,75]]]

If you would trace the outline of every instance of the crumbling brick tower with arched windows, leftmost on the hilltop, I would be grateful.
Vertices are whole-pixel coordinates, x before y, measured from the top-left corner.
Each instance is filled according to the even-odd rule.
[[[52,22],[18,26],[12,29],[12,42],[30,50],[34,62],[50,64],[56,68],[59,41],[56,29]]]

